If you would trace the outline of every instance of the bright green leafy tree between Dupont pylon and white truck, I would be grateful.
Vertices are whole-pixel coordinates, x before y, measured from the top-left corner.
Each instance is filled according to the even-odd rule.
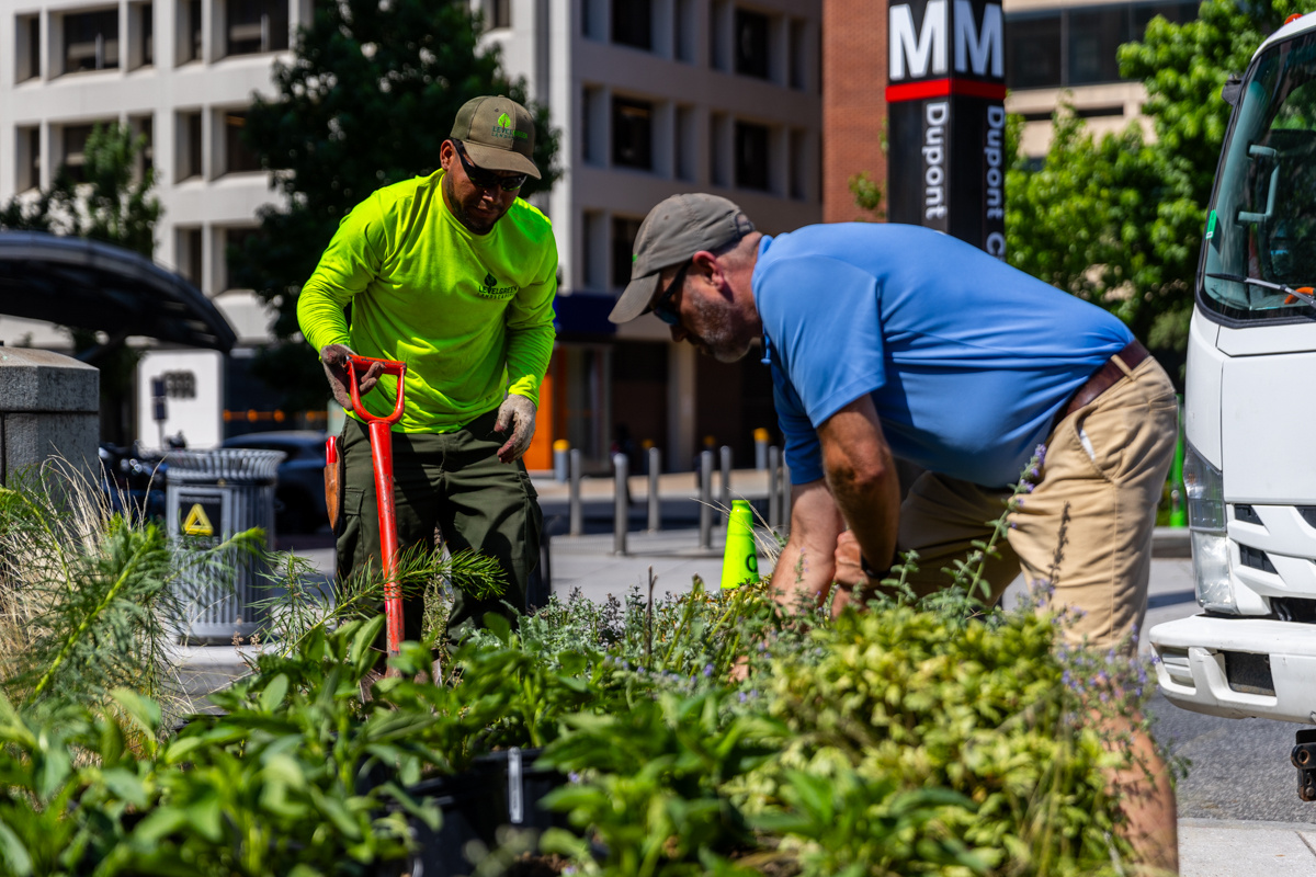
[[[1178,380],[1207,201],[1229,122],[1220,89],[1262,39],[1316,0],[1207,0],[1195,21],[1155,18],[1120,47],[1120,74],[1141,80],[1154,137],[1133,124],[1094,137],[1061,107],[1040,168],[1007,175],[1011,264],[1107,308]]]

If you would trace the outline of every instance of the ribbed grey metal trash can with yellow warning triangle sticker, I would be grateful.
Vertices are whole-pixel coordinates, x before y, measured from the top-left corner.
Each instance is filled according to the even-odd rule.
[[[234,533],[261,527],[274,544],[274,489],[283,451],[220,448],[168,455],[164,510],[172,539],[213,547]],[[263,625],[253,604],[265,594],[266,572],[254,556],[222,564],[190,565],[180,582],[184,604],[180,635],[188,642],[249,639]]]

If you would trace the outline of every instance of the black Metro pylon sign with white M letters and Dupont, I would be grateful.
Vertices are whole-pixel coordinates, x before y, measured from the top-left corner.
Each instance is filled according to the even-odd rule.
[[[1005,25],[1000,3],[912,0],[887,12],[892,222],[1005,258]]]

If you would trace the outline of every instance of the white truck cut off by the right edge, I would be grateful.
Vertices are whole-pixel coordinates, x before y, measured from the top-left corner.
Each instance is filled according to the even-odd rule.
[[[1184,397],[1203,611],[1149,639],[1178,706],[1316,724],[1316,14],[1223,96]],[[1294,763],[1316,801],[1316,731],[1298,732]]]

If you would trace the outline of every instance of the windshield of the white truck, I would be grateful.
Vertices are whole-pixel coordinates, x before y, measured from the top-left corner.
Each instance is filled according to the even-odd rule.
[[[1271,46],[1244,82],[1207,220],[1202,283],[1202,304],[1224,317],[1316,316],[1269,285],[1316,285],[1316,34]]]

